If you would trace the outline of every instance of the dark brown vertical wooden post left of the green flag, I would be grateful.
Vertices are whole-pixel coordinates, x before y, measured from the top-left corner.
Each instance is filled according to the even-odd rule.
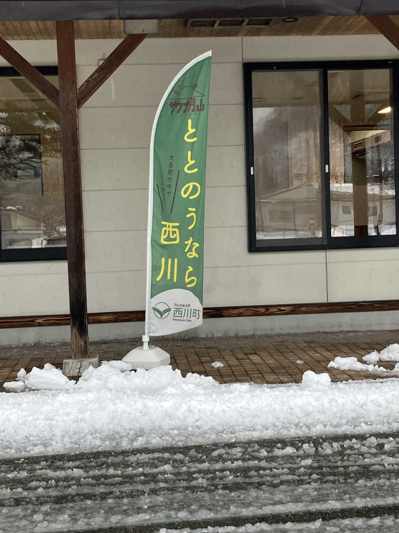
[[[81,358],[87,357],[88,325],[73,21],[57,21],[56,34],[60,84],[69,308],[71,316],[71,351],[73,358]]]

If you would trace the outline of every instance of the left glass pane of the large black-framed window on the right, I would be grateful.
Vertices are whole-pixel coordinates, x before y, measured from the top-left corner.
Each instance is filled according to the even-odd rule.
[[[257,245],[319,242],[320,72],[253,72],[252,86]]]

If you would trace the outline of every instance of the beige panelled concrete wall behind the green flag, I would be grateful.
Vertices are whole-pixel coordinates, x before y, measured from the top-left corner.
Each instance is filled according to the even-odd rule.
[[[34,64],[56,64],[53,41],[12,44]],[[117,44],[77,41],[78,82]],[[204,305],[399,298],[399,248],[247,252],[242,75],[243,61],[396,58],[399,52],[382,36],[147,39],[79,115],[89,312],[144,308],[153,117],[176,72],[209,49]],[[0,263],[0,316],[68,309],[66,262]]]

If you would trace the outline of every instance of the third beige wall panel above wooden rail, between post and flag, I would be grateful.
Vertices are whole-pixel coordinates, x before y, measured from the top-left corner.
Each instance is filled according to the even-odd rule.
[[[86,191],[85,231],[131,231],[147,228],[147,191]]]

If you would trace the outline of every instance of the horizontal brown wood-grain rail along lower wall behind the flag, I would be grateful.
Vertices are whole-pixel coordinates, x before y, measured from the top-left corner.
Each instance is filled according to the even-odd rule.
[[[340,303],[306,303],[294,305],[254,305],[244,307],[207,307],[204,308],[204,318],[269,317],[281,316],[285,314],[359,313],[369,311],[399,311],[399,300]],[[88,313],[89,324],[143,322],[144,319],[145,311]],[[0,329],[43,326],[69,326],[69,324],[69,314],[0,318]]]

